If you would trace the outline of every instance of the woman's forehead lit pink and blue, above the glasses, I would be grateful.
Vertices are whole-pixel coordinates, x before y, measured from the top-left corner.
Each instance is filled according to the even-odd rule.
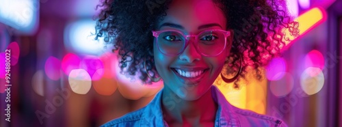
[[[185,30],[192,31],[201,25],[215,23],[226,28],[224,13],[212,0],[174,0],[166,13],[166,17],[158,26],[163,23],[174,23],[183,26]]]

